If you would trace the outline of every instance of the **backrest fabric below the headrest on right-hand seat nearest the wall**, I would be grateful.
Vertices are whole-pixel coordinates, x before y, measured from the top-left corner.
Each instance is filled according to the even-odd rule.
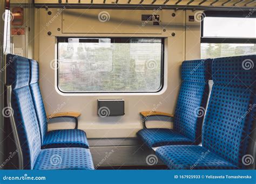
[[[208,83],[184,81],[181,84],[173,119],[173,130],[191,139],[201,141],[201,126],[209,93]],[[202,110],[202,114],[201,113]]]

